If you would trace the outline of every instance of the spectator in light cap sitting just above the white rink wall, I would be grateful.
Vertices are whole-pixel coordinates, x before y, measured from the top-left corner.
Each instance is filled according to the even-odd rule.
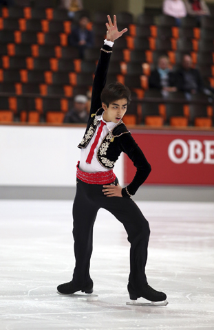
[[[89,114],[87,113],[87,97],[77,95],[74,98],[74,107],[65,114],[63,122],[81,123],[87,122]]]

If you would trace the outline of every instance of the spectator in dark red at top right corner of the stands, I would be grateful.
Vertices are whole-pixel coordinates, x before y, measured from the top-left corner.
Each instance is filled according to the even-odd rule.
[[[199,27],[200,18],[204,15],[211,14],[204,0],[184,0],[184,3],[186,5],[187,14],[195,17]]]

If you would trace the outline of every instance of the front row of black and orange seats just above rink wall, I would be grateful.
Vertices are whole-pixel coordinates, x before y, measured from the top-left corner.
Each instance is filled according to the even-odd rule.
[[[146,99],[145,99],[146,101]],[[65,98],[3,98],[0,102],[0,122],[62,123],[71,107]],[[2,109],[3,108],[3,109]],[[125,124],[149,126],[213,126],[213,106],[164,102],[133,102],[123,118]]]

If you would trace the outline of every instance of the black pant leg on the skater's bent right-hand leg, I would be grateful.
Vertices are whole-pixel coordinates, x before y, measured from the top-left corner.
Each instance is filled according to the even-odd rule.
[[[149,243],[149,223],[132,199],[104,197],[102,207],[114,214],[125,227],[130,248],[129,283],[137,290],[147,284],[145,266]]]

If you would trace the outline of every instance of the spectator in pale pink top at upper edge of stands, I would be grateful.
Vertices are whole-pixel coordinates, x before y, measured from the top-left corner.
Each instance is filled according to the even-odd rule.
[[[178,26],[180,19],[186,17],[186,7],[182,0],[164,0],[162,11],[165,15],[174,17]]]

